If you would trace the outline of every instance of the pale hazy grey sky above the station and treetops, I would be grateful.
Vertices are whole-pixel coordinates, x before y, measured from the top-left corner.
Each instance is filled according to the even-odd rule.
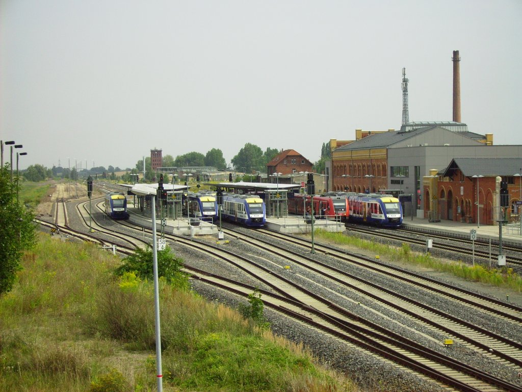
[[[462,122],[522,144],[521,20],[520,0],[0,0],[0,139],[20,168],[245,143],[315,162],[400,128],[402,67],[410,121],[451,121],[459,50]]]

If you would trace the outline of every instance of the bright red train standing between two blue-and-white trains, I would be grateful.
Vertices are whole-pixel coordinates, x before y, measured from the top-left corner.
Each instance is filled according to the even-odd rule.
[[[306,210],[311,212],[312,197],[309,194],[303,195],[294,193],[293,197],[288,198],[288,213],[304,215]],[[314,215],[316,217],[336,217],[340,216],[345,220],[348,216],[348,200],[345,194],[328,193],[326,195],[313,197]]]

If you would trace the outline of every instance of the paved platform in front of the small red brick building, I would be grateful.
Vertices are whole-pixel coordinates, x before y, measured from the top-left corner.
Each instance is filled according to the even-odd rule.
[[[498,241],[500,237],[499,226],[480,225],[476,223],[461,223],[455,221],[441,220],[440,222],[430,222],[428,219],[406,216],[402,220],[402,225],[411,229],[418,229],[426,233],[452,233],[461,238],[470,239],[471,230],[476,230],[478,240]],[[502,242],[522,248],[522,235],[520,234],[520,224],[511,223],[502,225]]]

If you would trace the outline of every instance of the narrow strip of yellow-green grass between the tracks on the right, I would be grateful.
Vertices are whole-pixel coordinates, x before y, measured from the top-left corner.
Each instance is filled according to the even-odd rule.
[[[376,255],[389,257],[391,261],[401,261],[415,264],[436,271],[449,272],[469,281],[487,283],[499,287],[508,287],[518,293],[522,292],[522,277],[513,272],[511,268],[485,268],[480,264],[468,266],[462,261],[450,262],[438,260],[429,254],[412,252],[407,244],[402,247],[384,245],[373,241],[363,240],[342,233],[326,232],[322,229],[315,230],[316,238],[329,241],[338,245],[354,246],[360,249],[375,252]]]

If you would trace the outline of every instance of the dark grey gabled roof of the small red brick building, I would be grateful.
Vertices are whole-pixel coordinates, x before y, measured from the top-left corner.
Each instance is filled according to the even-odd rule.
[[[452,177],[458,169],[466,177],[505,177],[520,173],[521,168],[522,158],[453,158],[443,176]]]

